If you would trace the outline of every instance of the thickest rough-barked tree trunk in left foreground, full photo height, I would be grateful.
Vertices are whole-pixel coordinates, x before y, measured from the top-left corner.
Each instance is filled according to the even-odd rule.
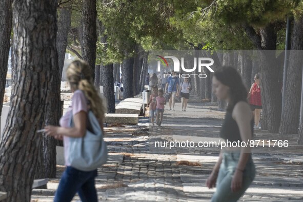
[[[42,134],[36,130],[43,126],[44,111],[52,98],[51,75],[58,73],[57,1],[14,1],[12,8],[17,74],[0,144],[0,190],[8,193],[4,201],[30,201],[42,143]]]

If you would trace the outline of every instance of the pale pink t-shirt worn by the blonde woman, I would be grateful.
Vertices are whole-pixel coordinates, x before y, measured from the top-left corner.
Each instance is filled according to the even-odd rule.
[[[68,107],[67,112],[60,118],[59,124],[61,127],[69,128],[69,122],[71,118],[71,112],[73,115],[76,113],[79,113],[80,111],[88,111],[88,100],[85,97],[84,93],[81,90],[76,90],[74,92],[74,95],[72,97],[72,104]],[[68,136],[63,136],[63,142],[64,142],[64,157],[65,157],[65,165],[70,166],[70,163],[68,162],[68,145],[69,145],[69,139]]]

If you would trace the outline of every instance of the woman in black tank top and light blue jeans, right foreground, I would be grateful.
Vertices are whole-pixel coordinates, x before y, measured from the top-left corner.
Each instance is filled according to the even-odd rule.
[[[229,142],[247,143],[253,136],[253,117],[247,103],[247,90],[240,75],[232,67],[223,67],[213,76],[213,92],[227,101],[227,112],[220,137]],[[206,181],[208,188],[216,187],[211,201],[237,201],[251,185],[255,166],[250,145],[221,151],[212,173]]]

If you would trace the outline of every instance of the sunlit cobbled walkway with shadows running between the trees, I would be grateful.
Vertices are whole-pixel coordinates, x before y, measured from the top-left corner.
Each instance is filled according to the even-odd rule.
[[[99,201],[210,201],[215,189],[206,188],[205,181],[219,149],[155,148],[154,143],[216,139],[224,112],[199,103],[189,103],[186,112],[180,111],[180,103],[175,111],[166,110],[161,127],[142,124],[106,129],[110,154],[108,163],[98,169]],[[262,130],[257,130],[256,136],[278,139]],[[290,139],[294,142],[295,136]],[[296,152],[255,153],[256,177],[240,201],[302,201],[303,157],[297,147],[293,148]],[[177,165],[180,160],[200,166]],[[51,179],[48,190],[33,190],[32,200],[52,201],[63,170],[64,167],[57,167],[57,178]]]

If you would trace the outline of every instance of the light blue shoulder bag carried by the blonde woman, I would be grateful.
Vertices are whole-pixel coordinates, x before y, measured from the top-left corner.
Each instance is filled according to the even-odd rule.
[[[88,111],[91,131],[86,130],[84,137],[69,137],[68,161],[70,166],[81,171],[93,171],[106,163],[108,151],[103,140],[103,131],[96,116]],[[70,127],[74,126],[71,110]]]

